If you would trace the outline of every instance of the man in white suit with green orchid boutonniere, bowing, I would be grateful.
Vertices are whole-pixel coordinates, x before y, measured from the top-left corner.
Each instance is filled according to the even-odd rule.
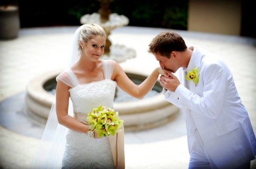
[[[195,46],[188,48],[174,31],[153,38],[148,52],[169,70],[160,83],[165,99],[182,108],[189,169],[249,169],[256,138],[227,65]]]

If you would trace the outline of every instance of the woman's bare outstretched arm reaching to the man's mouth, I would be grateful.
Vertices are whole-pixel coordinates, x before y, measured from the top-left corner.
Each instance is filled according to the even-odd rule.
[[[140,85],[136,85],[125,74],[121,66],[118,63],[115,63],[112,77],[124,92],[137,99],[143,99],[143,97],[152,90],[160,74],[167,76],[166,71],[167,70],[164,70],[161,67],[155,68]]]

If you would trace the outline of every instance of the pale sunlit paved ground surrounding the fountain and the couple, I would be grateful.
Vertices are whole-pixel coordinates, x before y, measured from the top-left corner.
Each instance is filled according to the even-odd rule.
[[[28,81],[66,65],[75,29],[51,27],[21,29],[19,37],[0,40],[0,169],[27,169],[39,143],[42,128],[24,114]],[[151,71],[158,63],[148,44],[166,29],[125,26],[111,32],[112,44],[136,50],[136,57],[121,63]],[[238,92],[256,131],[256,40],[237,36],[178,31],[187,45],[200,46],[222,57],[233,72]],[[56,64],[58,63],[58,64]],[[36,135],[38,134],[38,135]],[[168,125],[125,135],[127,169],[186,169],[189,153],[182,114]],[[251,169],[255,169],[253,161]]]

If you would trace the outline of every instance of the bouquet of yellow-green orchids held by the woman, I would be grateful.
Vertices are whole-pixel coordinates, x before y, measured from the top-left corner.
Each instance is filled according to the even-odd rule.
[[[115,133],[121,131],[121,127],[123,126],[123,120],[119,119],[118,112],[105,106],[93,108],[88,113],[87,119],[91,131],[95,130],[99,138],[109,135],[114,136]]]

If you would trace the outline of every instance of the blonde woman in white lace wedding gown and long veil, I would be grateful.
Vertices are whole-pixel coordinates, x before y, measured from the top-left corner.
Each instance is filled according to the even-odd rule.
[[[166,70],[158,67],[136,85],[118,63],[100,59],[106,39],[97,24],[75,31],[70,67],[56,77],[56,100],[32,168],[125,169],[124,128],[115,136],[99,138],[90,131],[87,114],[99,106],[113,108],[116,85],[142,99]]]

